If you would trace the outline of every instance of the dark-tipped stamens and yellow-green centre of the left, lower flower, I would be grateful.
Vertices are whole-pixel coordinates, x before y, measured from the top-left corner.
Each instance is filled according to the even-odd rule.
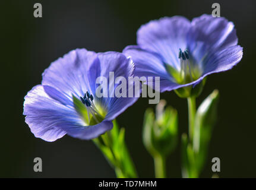
[[[81,102],[84,105],[86,105],[89,124],[91,124],[91,122],[93,123],[96,122],[96,124],[99,124],[100,122],[102,122],[104,117],[100,114],[100,111],[97,110],[96,106],[94,105],[93,95],[90,94],[89,91],[86,91],[86,93],[84,94],[84,97],[80,96],[80,99],[81,99]]]

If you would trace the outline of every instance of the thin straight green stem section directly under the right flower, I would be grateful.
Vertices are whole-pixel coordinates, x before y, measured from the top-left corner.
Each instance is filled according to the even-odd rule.
[[[189,141],[193,142],[194,135],[194,119],[196,112],[195,97],[188,97],[188,134]]]

